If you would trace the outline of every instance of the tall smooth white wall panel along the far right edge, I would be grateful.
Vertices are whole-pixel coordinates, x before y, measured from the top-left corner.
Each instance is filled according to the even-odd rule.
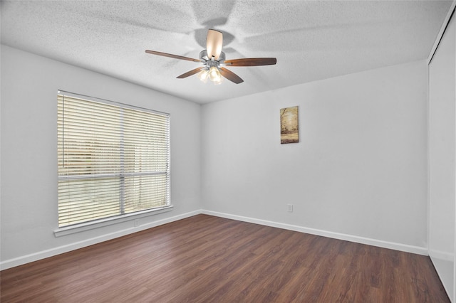
[[[455,298],[456,18],[429,64],[429,255]]]

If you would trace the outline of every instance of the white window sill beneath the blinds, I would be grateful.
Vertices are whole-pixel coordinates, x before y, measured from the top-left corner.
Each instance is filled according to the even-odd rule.
[[[81,224],[72,225],[72,226],[68,226],[68,227],[64,227],[64,228],[58,228],[57,230],[54,230],[54,236],[56,236],[56,238],[58,238],[63,235],[81,233],[86,230],[101,228],[104,226],[122,223],[125,221],[144,218],[147,216],[155,216],[155,215],[158,215],[159,213],[166,213],[168,211],[172,211],[172,208],[174,208],[174,206],[172,206],[172,205],[164,206],[162,208],[155,208],[155,209],[150,209],[147,211],[140,211],[138,213],[128,213],[128,214],[120,216],[120,217],[106,218],[106,219],[101,219],[101,220],[95,220],[93,222],[81,223]]]

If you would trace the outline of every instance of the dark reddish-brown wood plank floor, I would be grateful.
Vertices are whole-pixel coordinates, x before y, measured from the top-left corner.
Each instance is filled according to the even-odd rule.
[[[0,272],[1,302],[450,302],[429,257],[198,215]]]

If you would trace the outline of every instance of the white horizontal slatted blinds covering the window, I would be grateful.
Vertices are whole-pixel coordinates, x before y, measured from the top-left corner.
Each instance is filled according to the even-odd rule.
[[[58,225],[170,204],[170,116],[58,94]]]

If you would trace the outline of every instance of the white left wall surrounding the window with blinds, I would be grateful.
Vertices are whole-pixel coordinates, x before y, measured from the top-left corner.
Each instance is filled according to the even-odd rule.
[[[58,89],[171,114],[173,211],[141,218],[140,226],[130,220],[54,237]],[[193,102],[1,46],[2,269],[199,212],[200,115]]]

